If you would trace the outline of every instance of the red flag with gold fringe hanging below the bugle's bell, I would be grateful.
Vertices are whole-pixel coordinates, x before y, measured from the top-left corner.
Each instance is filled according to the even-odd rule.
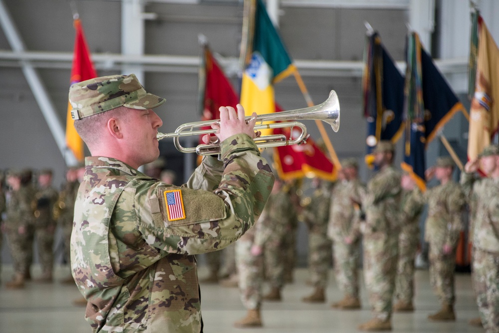
[[[276,112],[282,111],[275,104]],[[297,129],[297,131],[300,131]],[[275,128],[274,134],[284,134],[286,138],[297,137],[290,133],[288,128]],[[337,168],[326,155],[319,149],[311,138],[300,145],[276,147],[274,150],[274,162],[277,174],[281,179],[295,179],[307,176],[315,176],[325,180],[336,180]]]

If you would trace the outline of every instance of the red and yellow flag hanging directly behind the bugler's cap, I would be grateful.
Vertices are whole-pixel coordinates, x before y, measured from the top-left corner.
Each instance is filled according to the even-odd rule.
[[[88,52],[87,42],[81,22],[78,18],[74,20],[74,28],[76,30],[76,37],[74,41],[73,51],[73,66],[71,68],[71,84],[85,81],[97,76],[94,69],[92,60],[90,60],[90,52]],[[67,117],[66,117],[66,145],[74,154],[78,161],[83,161],[83,141],[74,129],[74,120],[71,117],[71,105],[68,103]]]

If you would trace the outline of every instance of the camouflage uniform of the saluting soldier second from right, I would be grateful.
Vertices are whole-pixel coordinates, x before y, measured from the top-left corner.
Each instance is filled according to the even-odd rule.
[[[461,186],[453,181],[427,190],[425,197],[428,200],[425,240],[430,245],[430,282],[440,302],[453,305],[456,248],[463,229],[465,197]],[[450,254],[444,253],[444,245],[451,246]]]

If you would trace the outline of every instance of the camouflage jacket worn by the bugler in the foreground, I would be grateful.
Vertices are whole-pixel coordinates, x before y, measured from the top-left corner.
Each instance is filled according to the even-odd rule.
[[[223,249],[250,229],[273,181],[247,135],[223,141],[222,157],[223,165],[205,157],[184,187],[115,159],[86,159],[71,266],[93,332],[201,331],[192,255]],[[181,194],[183,218],[170,218],[167,191]]]

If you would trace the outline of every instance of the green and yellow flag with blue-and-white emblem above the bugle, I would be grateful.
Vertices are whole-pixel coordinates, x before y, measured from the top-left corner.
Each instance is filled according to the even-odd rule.
[[[252,25],[241,82],[241,105],[247,115],[275,112],[273,84],[296,70],[261,0],[256,1]]]

